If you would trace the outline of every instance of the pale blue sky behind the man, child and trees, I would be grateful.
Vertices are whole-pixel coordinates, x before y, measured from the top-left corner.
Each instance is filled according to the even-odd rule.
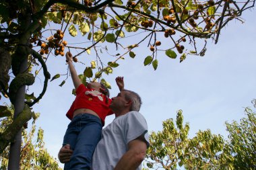
[[[178,57],[173,60],[164,53],[158,54],[156,71],[151,65],[143,66],[149,50],[140,46],[135,50],[135,58],[125,57],[113,74],[104,76],[112,86],[110,96],[119,93],[115,77],[123,76],[125,88],[141,96],[140,112],[148,122],[149,132],[162,130],[164,120],[175,120],[177,110],[183,110],[184,122],[189,122],[190,126],[189,137],[195,136],[199,130],[210,129],[213,134],[227,138],[225,122],[245,117],[244,108],[253,107],[251,101],[256,98],[255,16],[255,9],[247,10],[243,15],[245,23],[230,22],[222,29],[218,44],[209,40],[205,56],[187,56],[180,63]],[[160,40],[162,44],[166,41],[164,38]],[[133,44],[133,40],[129,41]],[[88,58],[91,60],[95,56]],[[78,58],[83,62],[89,62],[89,59]],[[65,58],[49,58],[49,63],[52,77],[55,73],[67,73]],[[85,65],[75,63],[75,68],[77,73],[83,73]],[[36,126],[44,130],[45,147],[53,157],[57,157],[61,148],[69,124],[65,114],[74,99],[71,77],[59,87],[63,79],[65,76],[49,83],[40,103],[33,106],[34,112],[40,112]],[[43,77],[37,77],[30,91],[40,93],[43,81]],[[106,125],[113,118],[108,116]]]

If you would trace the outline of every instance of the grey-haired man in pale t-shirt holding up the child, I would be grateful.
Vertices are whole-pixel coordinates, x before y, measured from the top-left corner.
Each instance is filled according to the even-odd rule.
[[[92,157],[93,170],[141,169],[149,146],[146,120],[138,112],[141,99],[137,93],[122,90],[113,97],[110,109],[115,120],[102,130],[102,138]],[[59,151],[61,163],[69,161],[72,151],[63,146]]]

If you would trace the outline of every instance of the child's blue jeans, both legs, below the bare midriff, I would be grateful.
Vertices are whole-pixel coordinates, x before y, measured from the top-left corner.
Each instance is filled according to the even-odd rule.
[[[92,114],[78,114],[67,127],[63,146],[70,144],[73,155],[65,170],[90,170],[92,167],[92,155],[100,141],[102,134],[102,123],[100,118]]]

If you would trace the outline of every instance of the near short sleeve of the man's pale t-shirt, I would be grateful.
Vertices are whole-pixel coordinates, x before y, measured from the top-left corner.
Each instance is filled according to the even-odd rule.
[[[147,147],[150,146],[150,140],[148,138],[148,125],[145,118],[139,112],[130,112],[127,114],[127,121],[125,124],[125,134],[127,144],[143,136],[146,140]]]

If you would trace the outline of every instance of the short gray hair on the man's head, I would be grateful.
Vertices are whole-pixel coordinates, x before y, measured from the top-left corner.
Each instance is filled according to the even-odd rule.
[[[128,93],[125,93],[125,99],[131,100],[130,111],[139,112],[139,109],[140,109],[141,104],[142,104],[141,97],[137,93],[135,93],[134,91],[130,91],[130,90],[127,90],[127,89],[125,89],[123,91],[128,92]]]

